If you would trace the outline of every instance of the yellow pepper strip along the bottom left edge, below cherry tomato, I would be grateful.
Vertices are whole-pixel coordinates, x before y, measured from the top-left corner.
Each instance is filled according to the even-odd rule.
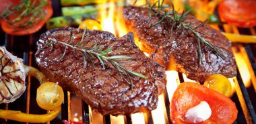
[[[46,123],[48,121],[55,119],[55,117],[57,117],[57,115],[60,112],[61,112],[61,106],[44,115],[26,114],[26,113],[22,113],[21,111],[11,111],[11,110],[0,109],[0,118],[13,120],[13,121],[28,122],[28,123]]]

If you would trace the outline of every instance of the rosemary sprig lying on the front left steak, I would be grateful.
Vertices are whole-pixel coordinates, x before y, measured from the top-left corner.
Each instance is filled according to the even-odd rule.
[[[129,60],[129,59],[136,59],[133,56],[110,56],[110,53],[112,53],[113,46],[110,46],[109,48],[106,48],[103,50],[98,44],[95,42],[94,46],[88,47],[88,46],[82,46],[82,44],[86,43],[86,38],[88,37],[88,32],[86,34],[86,29],[84,29],[84,33],[82,36],[82,40],[75,44],[74,37],[71,33],[71,36],[68,40],[65,42],[59,42],[53,38],[49,38],[52,42],[49,42],[46,45],[51,46],[53,48],[54,44],[61,44],[65,47],[65,50],[59,58],[58,62],[62,60],[67,52],[68,48],[73,49],[73,54],[75,56],[76,52],[81,52],[84,57],[84,68],[86,68],[87,64],[90,63],[94,67],[94,62],[92,60],[98,59],[101,63],[102,69],[106,69],[106,66],[108,66],[107,63],[112,64],[112,66],[118,70],[119,75],[128,83],[131,85],[131,88],[133,88],[133,76],[138,76],[140,78],[148,78],[147,76],[144,76],[143,74],[139,74],[137,72],[133,72],[131,70],[128,70],[127,68],[122,66],[122,62],[119,62],[119,60]],[[85,40],[84,40],[85,38]],[[95,68],[95,67],[94,67]],[[125,78],[127,76],[127,78]]]

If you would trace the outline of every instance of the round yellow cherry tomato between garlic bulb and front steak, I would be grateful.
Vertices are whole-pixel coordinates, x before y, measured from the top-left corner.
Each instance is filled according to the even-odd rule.
[[[61,106],[64,100],[64,92],[61,86],[54,82],[45,82],[39,86],[36,92],[36,102],[45,110],[53,110]]]

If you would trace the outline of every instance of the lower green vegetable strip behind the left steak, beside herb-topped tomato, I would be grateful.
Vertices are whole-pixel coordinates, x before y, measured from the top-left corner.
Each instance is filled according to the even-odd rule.
[[[70,15],[70,16],[60,16],[53,17],[49,19],[46,23],[47,29],[53,29],[57,27],[71,27],[77,26],[79,23],[85,19],[96,19],[97,12],[83,14],[83,15]]]

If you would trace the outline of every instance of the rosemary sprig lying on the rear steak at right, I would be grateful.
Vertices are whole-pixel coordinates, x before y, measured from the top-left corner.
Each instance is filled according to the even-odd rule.
[[[151,4],[149,0],[146,0],[146,5],[144,7],[149,10],[149,16],[152,18],[152,14],[161,17],[160,21],[154,23],[152,26],[159,25],[162,22],[168,22],[171,23],[170,27],[170,36],[173,35],[173,29],[182,29],[183,34],[184,31],[186,31],[189,34],[193,34],[195,38],[197,38],[197,44],[198,44],[198,51],[197,56],[199,57],[199,65],[201,64],[201,44],[207,46],[210,50],[212,50],[217,56],[220,56],[222,59],[226,58],[223,50],[218,48],[217,46],[214,46],[211,42],[206,40],[202,36],[202,32],[197,31],[197,28],[202,27],[207,20],[203,21],[199,25],[193,27],[193,25],[197,22],[187,22],[186,20],[191,18],[192,16],[187,16],[189,11],[183,11],[183,13],[180,15],[175,11],[174,5],[172,4],[172,1],[170,2],[172,5],[172,10],[167,10],[168,6],[163,5],[164,0],[160,3],[160,0],[156,1],[154,4]],[[135,1],[136,2],[136,1]]]

